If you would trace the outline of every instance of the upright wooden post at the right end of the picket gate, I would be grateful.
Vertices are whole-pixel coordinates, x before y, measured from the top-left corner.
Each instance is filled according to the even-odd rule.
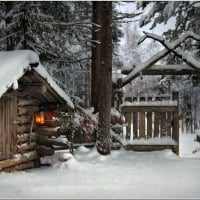
[[[177,142],[176,153],[179,155],[179,93],[172,93],[172,100],[177,101],[177,109],[173,113],[173,133],[172,138]]]

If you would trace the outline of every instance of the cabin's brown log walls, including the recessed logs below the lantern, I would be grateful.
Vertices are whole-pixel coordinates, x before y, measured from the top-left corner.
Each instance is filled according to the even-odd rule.
[[[53,155],[56,147],[69,148],[67,143],[57,140],[57,123],[35,123],[40,103],[23,92],[6,93],[0,98],[0,171],[34,168],[40,166],[40,157]],[[50,114],[56,110],[55,104],[47,106]]]

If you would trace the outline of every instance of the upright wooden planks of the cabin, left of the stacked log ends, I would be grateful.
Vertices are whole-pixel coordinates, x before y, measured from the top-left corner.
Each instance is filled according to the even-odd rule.
[[[12,157],[16,140],[16,97],[0,99],[0,160]]]

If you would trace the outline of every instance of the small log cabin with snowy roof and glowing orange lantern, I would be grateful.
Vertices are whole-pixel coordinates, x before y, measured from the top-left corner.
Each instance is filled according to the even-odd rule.
[[[41,141],[58,130],[58,105],[74,109],[35,52],[0,52],[0,171],[34,168],[53,154]]]

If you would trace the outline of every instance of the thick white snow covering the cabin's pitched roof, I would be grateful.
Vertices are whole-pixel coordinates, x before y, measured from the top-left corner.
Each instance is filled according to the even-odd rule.
[[[0,97],[9,89],[18,88],[18,80],[31,70],[31,65],[39,63],[33,69],[44,78],[53,90],[66,101],[68,106],[74,108],[69,96],[52,79],[46,69],[42,66],[39,56],[31,50],[15,50],[0,52]]]

